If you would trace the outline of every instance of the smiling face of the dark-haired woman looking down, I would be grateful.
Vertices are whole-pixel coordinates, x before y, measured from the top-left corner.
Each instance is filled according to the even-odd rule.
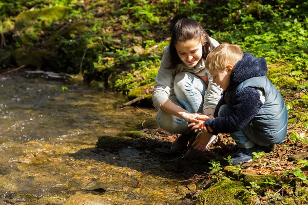
[[[202,57],[202,44],[198,39],[177,43],[175,47],[180,59],[189,67],[195,67]]]

